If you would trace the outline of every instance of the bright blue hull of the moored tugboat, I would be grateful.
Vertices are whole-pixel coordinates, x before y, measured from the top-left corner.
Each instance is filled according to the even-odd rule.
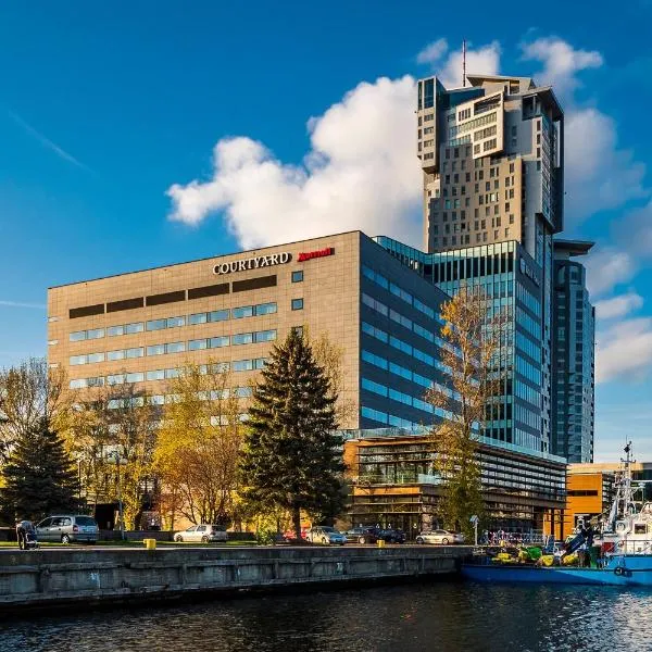
[[[527,582],[652,587],[652,556],[616,556],[604,568],[463,564],[462,576],[485,582]]]

